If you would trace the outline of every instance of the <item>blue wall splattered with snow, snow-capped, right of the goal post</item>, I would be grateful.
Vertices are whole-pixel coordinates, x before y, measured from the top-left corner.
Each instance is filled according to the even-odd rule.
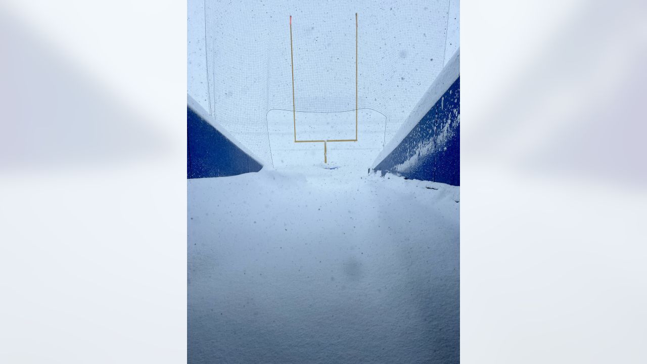
[[[375,159],[373,170],[460,185],[460,49]]]

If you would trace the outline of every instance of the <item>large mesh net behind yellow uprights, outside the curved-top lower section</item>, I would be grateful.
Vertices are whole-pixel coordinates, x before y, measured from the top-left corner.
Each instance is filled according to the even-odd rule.
[[[355,110],[357,60],[358,108],[386,116],[386,143],[443,68],[448,7],[449,0],[205,0],[209,111],[272,164],[267,113],[292,110],[292,16],[296,111]]]

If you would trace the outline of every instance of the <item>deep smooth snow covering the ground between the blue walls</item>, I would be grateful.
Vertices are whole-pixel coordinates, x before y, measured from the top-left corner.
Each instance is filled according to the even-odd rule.
[[[188,180],[190,363],[457,363],[459,187],[292,166]]]

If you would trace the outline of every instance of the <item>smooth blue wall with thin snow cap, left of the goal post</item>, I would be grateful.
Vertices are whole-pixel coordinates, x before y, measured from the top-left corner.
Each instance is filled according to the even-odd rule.
[[[217,124],[193,98],[186,106],[186,177],[225,177],[258,172],[263,165]]]

